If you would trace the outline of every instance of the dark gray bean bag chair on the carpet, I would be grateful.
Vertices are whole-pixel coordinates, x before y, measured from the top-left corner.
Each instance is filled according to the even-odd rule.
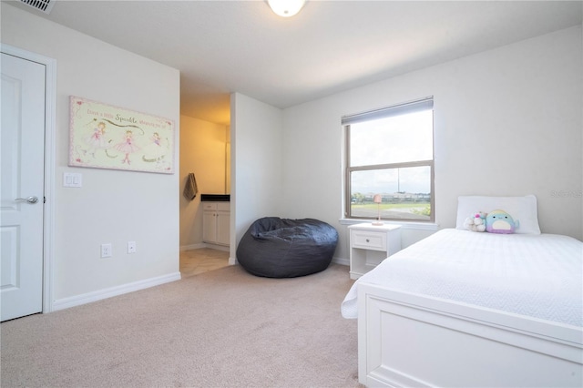
[[[248,272],[266,278],[295,278],[330,265],[338,232],[320,220],[265,217],[254,221],[237,247]]]

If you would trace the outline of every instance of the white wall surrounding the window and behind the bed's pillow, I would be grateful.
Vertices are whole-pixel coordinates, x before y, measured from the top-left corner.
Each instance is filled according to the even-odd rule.
[[[582,70],[578,26],[285,109],[281,212],[332,224],[347,259],[341,117],[434,96],[440,228],[459,195],[535,194],[541,229],[581,240]],[[404,230],[404,245],[427,233]]]

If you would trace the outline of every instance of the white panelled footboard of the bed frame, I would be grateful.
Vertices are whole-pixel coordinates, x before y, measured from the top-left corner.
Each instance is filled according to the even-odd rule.
[[[368,387],[580,388],[583,331],[361,283],[358,375]]]

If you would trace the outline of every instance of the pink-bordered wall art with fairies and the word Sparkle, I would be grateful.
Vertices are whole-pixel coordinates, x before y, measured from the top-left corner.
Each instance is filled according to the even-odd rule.
[[[174,122],[70,97],[69,166],[174,173]]]

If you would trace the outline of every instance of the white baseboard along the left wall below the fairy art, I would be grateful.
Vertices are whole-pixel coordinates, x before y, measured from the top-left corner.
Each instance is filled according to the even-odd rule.
[[[148,289],[159,286],[160,284],[169,283],[170,281],[179,281],[180,272],[170,273],[168,275],[158,276],[156,278],[146,279],[144,281],[134,281],[133,283],[123,284],[104,290],[87,292],[81,295],[71,296],[68,298],[57,299],[53,302],[52,311],[64,310],[70,307],[80,306],[92,301],[101,301],[102,299],[122,295],[124,293]]]

